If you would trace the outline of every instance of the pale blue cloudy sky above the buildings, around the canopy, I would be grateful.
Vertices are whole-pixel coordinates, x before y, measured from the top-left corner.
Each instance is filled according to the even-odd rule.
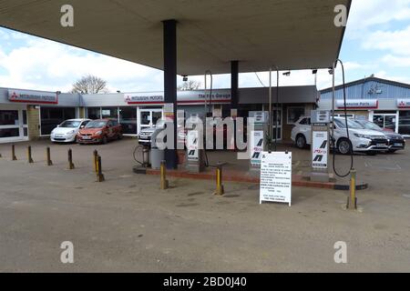
[[[340,58],[346,82],[374,74],[410,84],[410,0],[353,0]],[[160,70],[0,27],[0,87],[68,92],[78,78],[88,74],[107,80],[111,92],[163,89]],[[190,79],[204,83],[203,76]],[[336,83],[341,80],[339,68]],[[313,84],[310,70],[281,75],[280,85]],[[213,85],[229,88],[230,75],[215,75]],[[240,87],[262,85],[269,85],[267,72],[240,75]],[[332,85],[327,70],[319,71],[317,85],[319,89]]]

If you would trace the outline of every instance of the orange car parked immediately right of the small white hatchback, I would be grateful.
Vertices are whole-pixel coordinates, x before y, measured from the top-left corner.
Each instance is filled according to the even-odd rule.
[[[122,126],[114,119],[90,121],[78,131],[78,144],[107,144],[109,140],[122,138]]]

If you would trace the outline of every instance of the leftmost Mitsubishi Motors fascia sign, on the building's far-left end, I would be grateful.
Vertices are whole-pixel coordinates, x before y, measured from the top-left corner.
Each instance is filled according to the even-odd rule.
[[[8,101],[30,104],[58,104],[58,95],[51,92],[8,90]]]

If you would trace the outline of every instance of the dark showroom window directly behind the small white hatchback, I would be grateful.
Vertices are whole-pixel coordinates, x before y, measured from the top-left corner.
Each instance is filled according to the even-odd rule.
[[[41,107],[41,135],[50,135],[56,125],[67,119],[76,118],[76,108]]]

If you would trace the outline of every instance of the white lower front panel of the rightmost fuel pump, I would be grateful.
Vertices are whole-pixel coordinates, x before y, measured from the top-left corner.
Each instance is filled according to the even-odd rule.
[[[313,131],[312,167],[327,169],[329,151],[329,136],[327,131]]]

